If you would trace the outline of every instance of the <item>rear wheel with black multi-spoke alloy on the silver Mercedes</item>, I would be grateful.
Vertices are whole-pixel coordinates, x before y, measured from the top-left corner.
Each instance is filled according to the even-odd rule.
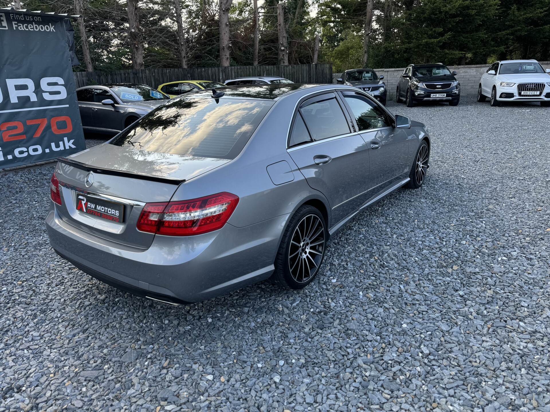
[[[300,206],[284,231],[271,281],[286,289],[309,285],[321,268],[327,240],[321,212],[311,205]]]

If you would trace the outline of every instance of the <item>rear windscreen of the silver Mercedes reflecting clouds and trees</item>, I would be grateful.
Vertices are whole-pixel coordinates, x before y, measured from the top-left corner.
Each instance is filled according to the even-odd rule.
[[[109,143],[149,152],[234,159],[274,102],[175,98]]]

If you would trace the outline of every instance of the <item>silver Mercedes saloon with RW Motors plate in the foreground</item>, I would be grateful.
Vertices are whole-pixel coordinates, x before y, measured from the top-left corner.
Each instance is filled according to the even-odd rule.
[[[426,127],[343,85],[252,85],[171,99],[61,158],[53,249],[109,285],[168,304],[271,277],[300,289],[329,236],[403,185],[419,188]]]

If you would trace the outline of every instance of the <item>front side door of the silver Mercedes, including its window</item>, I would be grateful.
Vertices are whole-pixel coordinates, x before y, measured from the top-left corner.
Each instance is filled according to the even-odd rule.
[[[341,91],[355,127],[370,147],[369,197],[383,192],[410,171],[409,137],[392,116],[361,92]]]

